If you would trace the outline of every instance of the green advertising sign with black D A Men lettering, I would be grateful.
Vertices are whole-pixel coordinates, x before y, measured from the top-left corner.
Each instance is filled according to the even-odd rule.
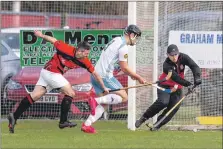
[[[122,36],[123,30],[43,30],[43,34],[76,46],[85,40],[91,45],[89,58],[95,64],[103,47],[114,37]],[[33,31],[20,31],[20,61],[22,66],[43,66],[56,52],[53,44],[37,38]]]

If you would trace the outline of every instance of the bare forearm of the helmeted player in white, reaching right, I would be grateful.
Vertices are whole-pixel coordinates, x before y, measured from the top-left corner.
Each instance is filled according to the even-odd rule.
[[[129,68],[128,63],[126,61],[119,61],[119,65],[120,65],[121,70],[125,74],[129,75],[133,80],[138,80],[139,83],[141,84],[146,82],[140,75],[136,74],[134,71],[132,71]]]

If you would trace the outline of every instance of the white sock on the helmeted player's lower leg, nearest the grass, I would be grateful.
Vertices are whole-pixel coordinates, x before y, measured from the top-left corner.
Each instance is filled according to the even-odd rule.
[[[85,121],[85,126],[91,126],[92,123],[96,122],[104,113],[105,109],[102,105],[98,105],[95,108],[95,115],[90,115],[88,119]]]

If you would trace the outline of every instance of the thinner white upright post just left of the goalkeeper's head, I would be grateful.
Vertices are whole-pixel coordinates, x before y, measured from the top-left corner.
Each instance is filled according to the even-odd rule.
[[[156,81],[158,78],[158,18],[159,17],[159,2],[154,2],[154,51],[153,51],[153,81]],[[157,89],[153,88],[153,102],[157,99]],[[157,115],[153,117],[153,124],[157,120]]]

